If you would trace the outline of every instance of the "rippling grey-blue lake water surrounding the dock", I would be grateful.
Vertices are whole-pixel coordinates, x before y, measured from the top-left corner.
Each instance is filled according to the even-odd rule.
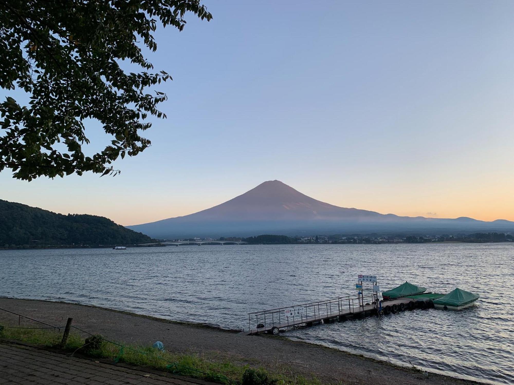
[[[415,310],[285,332],[292,339],[491,383],[514,383],[514,244],[246,245],[0,251],[0,296],[79,302],[248,328],[247,313],[406,280],[480,294],[461,312]]]

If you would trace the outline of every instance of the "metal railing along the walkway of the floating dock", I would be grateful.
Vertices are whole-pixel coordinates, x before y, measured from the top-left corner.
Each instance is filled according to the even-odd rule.
[[[351,295],[327,299],[325,301],[317,301],[304,303],[295,306],[278,307],[277,309],[263,310],[260,312],[248,313],[248,328],[262,329],[272,327],[273,325],[297,325],[300,323],[314,322],[323,318],[336,317],[338,315],[354,313],[355,308],[361,310],[362,303],[376,306],[373,295]],[[286,315],[286,311],[289,316]],[[252,325],[253,324],[253,325]],[[257,326],[260,326],[259,328]]]

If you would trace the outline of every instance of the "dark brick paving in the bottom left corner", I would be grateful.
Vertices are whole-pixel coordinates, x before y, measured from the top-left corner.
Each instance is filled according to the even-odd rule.
[[[176,384],[207,385],[94,360],[69,357],[23,345],[0,344],[0,384]]]

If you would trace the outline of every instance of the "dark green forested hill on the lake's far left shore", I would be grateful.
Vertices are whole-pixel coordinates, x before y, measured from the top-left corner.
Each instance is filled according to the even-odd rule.
[[[0,248],[13,245],[125,245],[152,238],[95,215],[56,214],[0,199]]]

